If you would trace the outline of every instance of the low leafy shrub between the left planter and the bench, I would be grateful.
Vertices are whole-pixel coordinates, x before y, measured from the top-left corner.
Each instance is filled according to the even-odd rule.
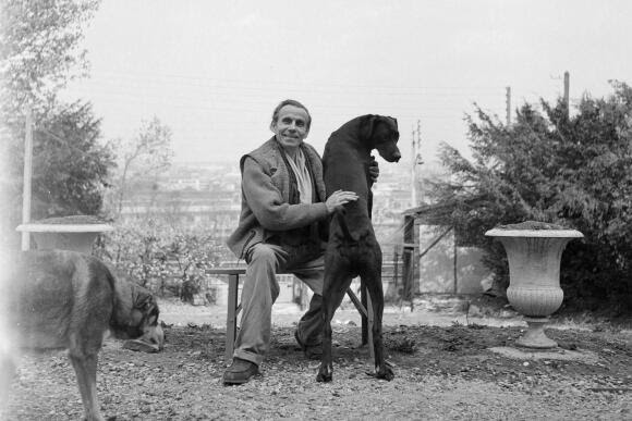
[[[220,248],[209,233],[147,218],[120,223],[101,236],[95,252],[137,284],[191,301],[208,286],[205,271],[219,264]]]

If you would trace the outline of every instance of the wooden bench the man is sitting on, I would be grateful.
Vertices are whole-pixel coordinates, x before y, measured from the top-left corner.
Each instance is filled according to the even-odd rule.
[[[228,275],[228,311],[226,315],[226,351],[224,359],[230,361],[234,351],[234,342],[236,339],[236,318],[242,309],[239,301],[240,276],[245,275],[245,268],[216,268],[206,270],[209,275]],[[370,298],[364,288],[361,289],[361,299],[351,290],[347,294],[362,317],[362,344],[368,344],[370,358],[374,358],[373,351],[373,306]],[[366,306],[363,305],[366,302]]]

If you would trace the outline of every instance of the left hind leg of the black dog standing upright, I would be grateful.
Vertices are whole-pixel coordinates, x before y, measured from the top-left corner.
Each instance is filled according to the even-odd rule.
[[[325,285],[323,287],[323,358],[317,382],[331,382],[333,379],[333,358],[331,355],[331,319],[336,309],[340,307],[352,277],[335,267],[325,265]]]

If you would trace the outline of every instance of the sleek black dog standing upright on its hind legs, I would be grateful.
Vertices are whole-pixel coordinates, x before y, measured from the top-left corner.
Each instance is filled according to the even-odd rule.
[[[331,319],[353,277],[362,280],[373,302],[373,346],[375,376],[392,380],[387,367],[381,339],[384,292],[381,286],[381,249],[370,223],[373,182],[368,176],[370,152],[377,149],[389,162],[397,162],[401,153],[397,147],[397,121],[381,115],[356,117],[333,132],[325,146],[323,170],[325,186],[330,195],[336,190],[355,191],[358,199],[336,212],[329,225],[329,243],[325,252],[325,285],[323,287],[323,360],[316,380],[332,379]]]

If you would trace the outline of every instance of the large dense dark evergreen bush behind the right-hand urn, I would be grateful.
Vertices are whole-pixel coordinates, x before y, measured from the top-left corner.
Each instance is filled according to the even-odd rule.
[[[429,219],[454,225],[461,243],[486,251],[500,289],[505,251],[484,236],[499,224],[557,223],[582,232],[563,255],[566,306],[632,309],[632,88],[612,83],[605,99],[585,96],[568,116],[564,103],[524,104],[506,126],[476,109],[467,116],[473,159],[443,145],[450,182],[435,182]]]

